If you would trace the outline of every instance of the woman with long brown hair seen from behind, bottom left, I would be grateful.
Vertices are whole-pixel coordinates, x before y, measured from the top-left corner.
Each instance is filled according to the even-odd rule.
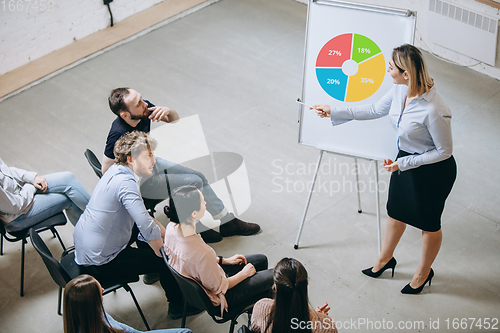
[[[104,312],[101,284],[82,274],[64,288],[64,333],[141,333]],[[154,330],[156,333],[191,333],[187,328]]]

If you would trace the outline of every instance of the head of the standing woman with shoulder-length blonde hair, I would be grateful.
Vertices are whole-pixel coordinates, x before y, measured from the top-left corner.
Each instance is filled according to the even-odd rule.
[[[421,96],[434,86],[434,79],[427,72],[422,52],[410,44],[403,44],[392,51],[392,61],[401,74],[408,73],[408,97]]]

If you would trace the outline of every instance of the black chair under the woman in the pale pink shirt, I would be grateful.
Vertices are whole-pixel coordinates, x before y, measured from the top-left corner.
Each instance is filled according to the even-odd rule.
[[[250,326],[250,319],[254,304],[261,298],[268,296],[267,295],[268,293],[257,295],[254,298],[248,300],[244,304],[233,305],[229,307],[228,312],[224,311],[223,316],[220,317],[220,306],[213,305],[212,301],[208,297],[205,290],[203,290],[203,288],[196,281],[182,276],[181,274],[177,273],[175,269],[170,267],[170,265],[168,264],[168,258],[165,254],[165,251],[163,250],[163,247],[160,248],[160,252],[161,255],[163,256],[165,264],[167,265],[168,269],[174,276],[175,280],[177,281],[177,284],[179,284],[179,288],[181,289],[182,295],[184,296],[184,312],[182,314],[181,328],[186,327],[186,308],[187,308],[187,303],[189,303],[196,308],[206,310],[207,313],[212,317],[212,319],[218,324],[223,324],[227,321],[231,321],[229,333],[233,333],[234,327],[238,323],[236,319],[238,319],[238,317],[242,313],[248,314],[248,326]]]

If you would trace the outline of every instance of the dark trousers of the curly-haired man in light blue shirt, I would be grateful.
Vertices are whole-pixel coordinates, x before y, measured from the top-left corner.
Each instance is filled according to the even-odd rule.
[[[160,274],[160,284],[170,304],[181,306],[184,302],[177,281],[163,261],[153,249],[137,240],[138,229],[134,226],[129,244],[113,260],[101,266],[81,266],[81,272],[94,276],[98,281],[118,281],[120,277],[149,273]],[[137,248],[131,247],[134,243]]]

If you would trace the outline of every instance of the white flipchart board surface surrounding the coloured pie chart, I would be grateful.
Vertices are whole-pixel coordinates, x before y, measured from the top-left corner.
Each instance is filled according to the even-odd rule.
[[[378,101],[393,85],[392,78],[385,72],[392,50],[405,43],[413,44],[415,23],[416,15],[409,10],[348,1],[309,0],[302,101],[307,105],[325,103],[332,107],[372,104]],[[380,87],[373,95],[357,102],[345,102],[331,97],[322,88],[316,75],[316,61],[322,48],[332,38],[345,34],[357,34],[371,39],[384,57],[385,76],[381,74],[383,79],[379,80],[382,82]],[[377,64],[377,68],[380,68],[379,63]],[[365,80],[368,80],[367,86],[377,84],[370,83],[369,78]],[[301,106],[299,123],[300,144],[373,160],[396,157],[397,137],[388,117],[332,126],[329,119],[320,118],[313,110]]]

